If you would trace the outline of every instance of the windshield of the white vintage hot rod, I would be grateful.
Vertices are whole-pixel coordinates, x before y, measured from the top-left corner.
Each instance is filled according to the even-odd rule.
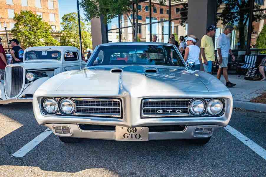
[[[28,51],[25,53],[25,60],[34,60],[34,59],[61,59],[61,52],[53,50],[37,50],[37,51]]]

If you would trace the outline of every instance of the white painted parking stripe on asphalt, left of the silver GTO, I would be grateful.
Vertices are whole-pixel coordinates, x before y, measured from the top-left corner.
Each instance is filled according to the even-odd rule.
[[[24,145],[22,148],[20,148],[17,152],[12,154],[15,157],[23,157],[25,156],[29,151],[31,151],[35,146],[40,144],[45,138],[47,138],[52,133],[52,130],[47,128],[44,132],[42,132],[40,135],[35,137],[33,140],[31,140],[29,143]]]

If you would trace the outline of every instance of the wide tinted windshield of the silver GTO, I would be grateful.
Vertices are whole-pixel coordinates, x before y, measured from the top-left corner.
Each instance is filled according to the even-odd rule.
[[[164,45],[101,46],[88,66],[128,64],[185,66],[174,47]]]

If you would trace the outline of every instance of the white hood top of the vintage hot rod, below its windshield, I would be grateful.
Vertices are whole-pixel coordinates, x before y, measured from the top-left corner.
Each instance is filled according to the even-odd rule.
[[[45,68],[58,68],[62,67],[61,61],[58,60],[33,60],[33,61],[24,61],[22,63],[16,63],[23,66],[26,70],[34,70],[34,69],[45,69]]]

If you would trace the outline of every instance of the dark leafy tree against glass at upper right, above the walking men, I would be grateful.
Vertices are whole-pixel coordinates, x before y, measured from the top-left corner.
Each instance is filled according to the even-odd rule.
[[[247,34],[245,34],[245,31],[247,31],[246,25],[249,22],[249,8],[251,2],[253,1],[218,0],[217,8],[219,8],[221,5],[223,5],[224,8],[221,14],[217,15],[217,22],[221,20],[222,24],[224,25],[231,24],[235,27],[235,29],[239,30],[238,39],[240,43],[240,49],[245,49],[245,44],[247,39]],[[258,10],[260,9],[260,7],[261,5],[255,4],[254,10]],[[257,11],[254,12],[252,21],[254,21],[255,19],[264,19],[264,18],[266,18],[266,15],[263,13],[263,11]]]

